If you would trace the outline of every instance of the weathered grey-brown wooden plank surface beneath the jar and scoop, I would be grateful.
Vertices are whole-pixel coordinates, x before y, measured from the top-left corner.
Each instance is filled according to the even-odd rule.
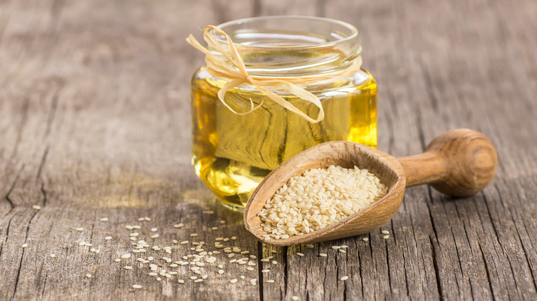
[[[379,82],[379,149],[412,155],[443,131],[476,129],[498,150],[494,182],[463,199],[408,189],[388,239],[257,243],[191,168],[189,79],[203,56],[185,38],[270,14],[356,25]],[[0,299],[535,300],[536,32],[533,0],[0,1]],[[171,254],[132,253],[134,231]],[[193,282],[162,259],[231,236],[225,245],[257,256],[253,271],[222,252]],[[260,261],[271,254],[277,264]],[[148,256],[178,275],[149,276],[136,260]]]

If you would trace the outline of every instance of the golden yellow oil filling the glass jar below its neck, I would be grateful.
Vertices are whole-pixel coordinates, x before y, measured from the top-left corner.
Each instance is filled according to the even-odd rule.
[[[191,85],[192,164],[196,174],[231,208],[242,208],[257,184],[283,161],[315,144],[347,140],[377,146],[377,84],[364,70],[352,80],[308,91],[322,101],[324,120],[310,123],[259,91],[239,87],[226,94],[237,115],[218,100],[225,84],[199,69]],[[311,117],[317,109],[284,97]]]

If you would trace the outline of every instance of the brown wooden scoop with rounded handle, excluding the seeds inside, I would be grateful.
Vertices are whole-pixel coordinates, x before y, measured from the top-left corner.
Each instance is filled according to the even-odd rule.
[[[288,179],[312,168],[366,168],[389,187],[385,197],[343,221],[321,230],[266,241],[257,214]],[[251,194],[244,208],[244,225],[268,245],[297,245],[366,234],[392,219],[401,205],[405,187],[431,184],[455,197],[472,195],[487,186],[496,174],[498,158],[482,133],[469,129],[448,131],[434,138],[421,155],[396,159],[375,148],[346,141],[326,142],[291,157],[269,173]]]

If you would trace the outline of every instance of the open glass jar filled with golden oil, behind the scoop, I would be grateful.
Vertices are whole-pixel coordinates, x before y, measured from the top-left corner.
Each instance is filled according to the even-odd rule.
[[[244,208],[268,172],[315,144],[347,140],[377,146],[375,79],[359,67],[350,75],[333,76],[361,63],[355,27],[317,17],[269,16],[218,28],[233,39],[253,78],[322,75],[300,87],[317,96],[324,111],[324,119],[310,122],[246,83],[227,91],[227,104],[235,112],[259,107],[234,113],[217,96],[229,80],[211,76],[206,67],[198,69],[191,82],[192,164],[224,205]],[[227,45],[224,36],[209,33]],[[291,93],[275,93],[313,118],[319,113],[315,105]]]

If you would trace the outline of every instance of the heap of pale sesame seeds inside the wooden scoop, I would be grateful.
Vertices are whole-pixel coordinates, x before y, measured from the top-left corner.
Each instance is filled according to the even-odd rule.
[[[366,169],[314,168],[291,177],[258,214],[266,241],[322,229],[383,198],[388,188]]]

